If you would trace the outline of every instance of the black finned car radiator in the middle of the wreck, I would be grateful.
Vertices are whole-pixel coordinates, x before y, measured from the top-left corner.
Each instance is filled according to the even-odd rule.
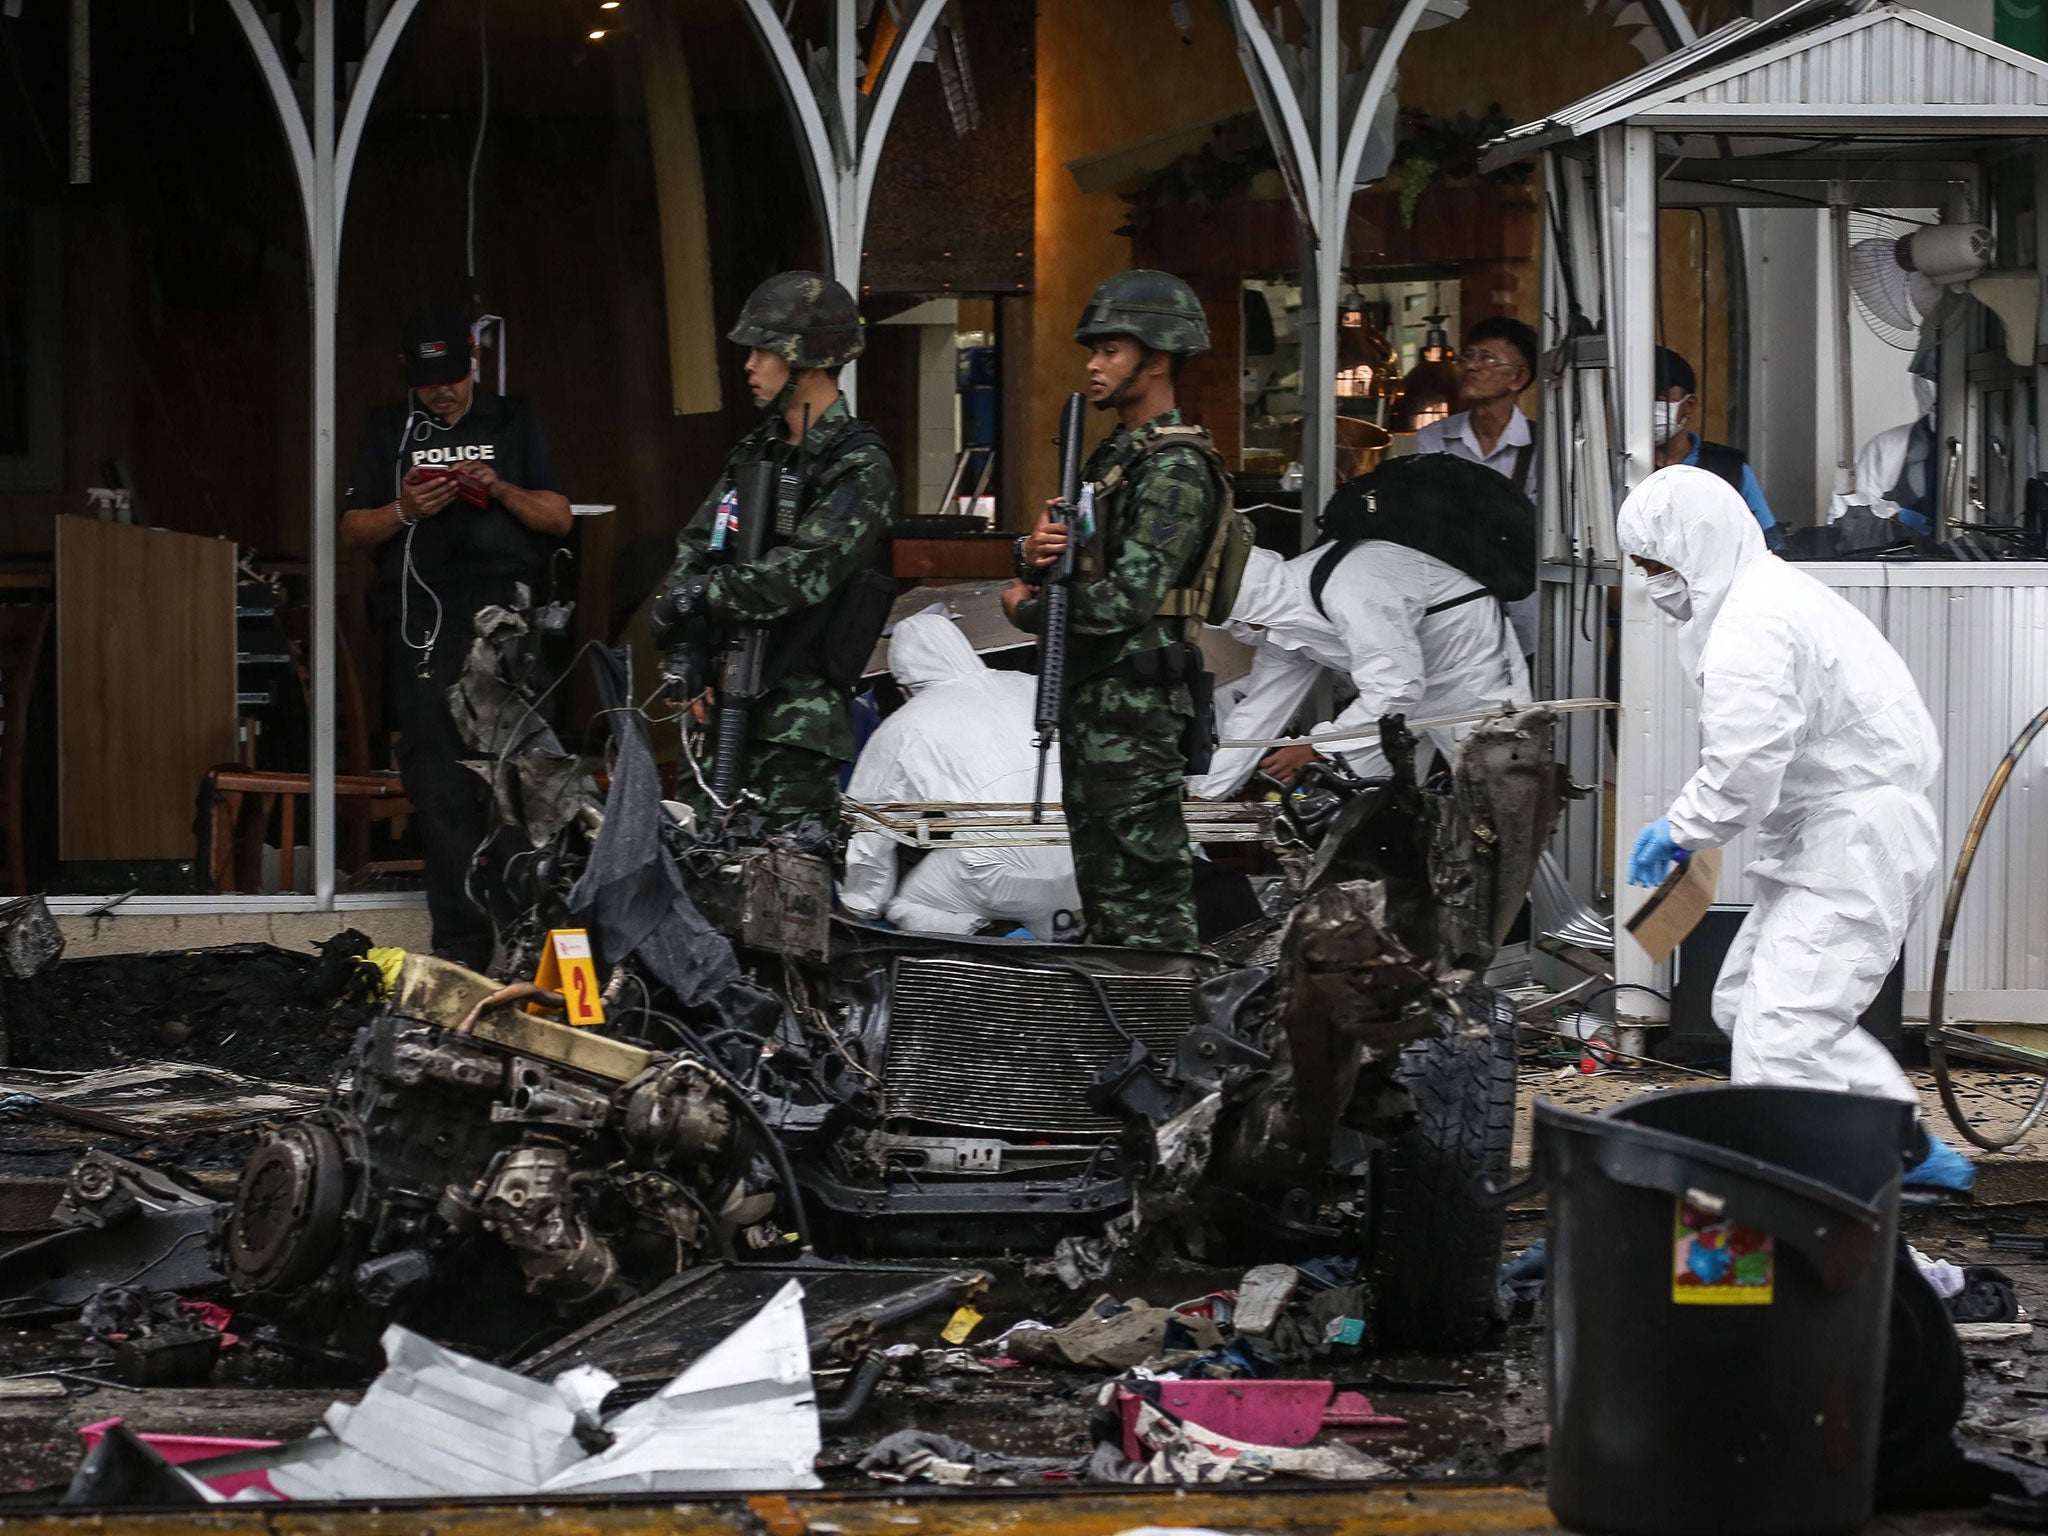
[[[1194,977],[1102,975],[1116,1018],[1171,1061]],[[1130,1047],[1073,971],[901,956],[889,1008],[889,1112],[958,1130],[1104,1137],[1087,1085]]]

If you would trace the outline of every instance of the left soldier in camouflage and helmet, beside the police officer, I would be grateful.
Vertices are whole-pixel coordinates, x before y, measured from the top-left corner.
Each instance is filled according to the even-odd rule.
[[[811,819],[838,836],[840,766],[854,758],[854,723],[846,688],[819,664],[831,618],[825,604],[883,561],[895,465],[840,393],[840,369],[862,350],[860,313],[844,287],[819,272],[772,276],[748,299],[727,340],[752,348],[748,385],[766,416],[727,457],[676,539],[655,637],[670,649],[721,625],[778,627],[772,682],[748,719],[741,782],[768,827]],[[733,489],[733,467],[762,453],[782,459],[782,537],[760,561],[721,561],[713,528]]]

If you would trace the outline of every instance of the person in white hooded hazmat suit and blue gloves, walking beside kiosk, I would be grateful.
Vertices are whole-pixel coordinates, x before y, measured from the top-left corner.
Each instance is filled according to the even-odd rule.
[[[1927,899],[1942,836],[1927,791],[1935,725],[1905,662],[1841,596],[1778,559],[1718,475],[1673,465],[1622,504],[1620,545],[1686,625],[1700,682],[1700,768],[1636,836],[1630,885],[1755,827],[1757,901],[1714,985],[1735,1081],[1919,1106],[1858,1026]],[[1907,1184],[1968,1188],[1929,1137]]]

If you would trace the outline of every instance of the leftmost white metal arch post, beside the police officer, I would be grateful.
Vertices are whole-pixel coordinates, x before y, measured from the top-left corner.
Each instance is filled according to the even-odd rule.
[[[397,47],[406,23],[420,0],[391,0],[391,8],[356,70],[354,88],[336,135],[336,70],[334,14],[336,0],[311,0],[311,123],[293,88],[291,74],[279,53],[276,39],[256,14],[254,0],[227,0],[242,25],[256,68],[270,90],[285,143],[291,150],[299,180],[299,207],[305,211],[307,289],[313,319],[313,741],[311,741],[311,821],[313,821],[313,905],[334,909],[334,367],[336,367],[336,301],[342,270],[342,217],[348,209],[348,178],[362,145],[377,84]]]

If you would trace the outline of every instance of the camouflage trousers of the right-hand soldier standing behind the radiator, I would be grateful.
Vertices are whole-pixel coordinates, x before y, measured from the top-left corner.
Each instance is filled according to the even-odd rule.
[[[1194,850],[1180,813],[1184,684],[1096,678],[1067,694],[1061,799],[1092,944],[1194,950]]]

